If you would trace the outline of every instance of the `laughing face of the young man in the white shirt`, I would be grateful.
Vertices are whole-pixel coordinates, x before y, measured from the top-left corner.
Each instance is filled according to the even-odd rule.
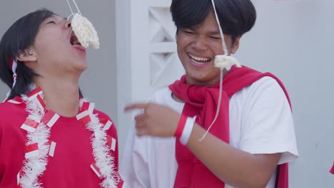
[[[239,38],[232,46],[231,36],[224,36],[230,53],[238,49]],[[223,55],[218,23],[211,11],[203,23],[193,28],[179,28],[176,36],[178,57],[186,69],[186,82],[193,85],[215,85],[219,81],[220,69],[213,61]]]

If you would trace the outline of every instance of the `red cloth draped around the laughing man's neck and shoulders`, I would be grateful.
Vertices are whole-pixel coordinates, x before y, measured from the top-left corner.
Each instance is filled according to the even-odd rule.
[[[233,66],[231,71],[223,78],[223,93],[221,98],[220,113],[216,122],[211,127],[211,134],[226,143],[230,142],[229,131],[229,113],[228,99],[242,88],[251,85],[256,80],[270,76],[277,80],[280,87],[284,90],[286,98],[290,99],[283,83],[270,73],[260,73],[251,68],[243,66],[236,68]],[[186,84],[186,75],[181,80],[169,85],[169,88],[181,100],[185,101],[183,114],[193,117],[197,115],[198,125],[208,130],[216,115],[218,105],[219,83],[211,86],[198,86]],[[224,187],[225,183],[216,177],[193,153],[183,146],[179,140],[176,140],[176,160],[178,162],[178,171],[174,187]],[[278,166],[276,185],[277,188],[288,187],[288,164]]]

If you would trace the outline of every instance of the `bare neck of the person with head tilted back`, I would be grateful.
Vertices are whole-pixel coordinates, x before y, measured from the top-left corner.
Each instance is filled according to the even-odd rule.
[[[35,83],[43,90],[46,109],[65,117],[79,112],[79,79],[69,82],[41,78]]]

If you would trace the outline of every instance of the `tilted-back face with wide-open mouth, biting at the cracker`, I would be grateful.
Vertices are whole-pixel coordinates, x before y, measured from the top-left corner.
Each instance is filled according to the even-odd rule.
[[[86,49],[80,45],[71,21],[53,15],[39,27],[34,45],[28,49],[36,57],[31,68],[44,77],[80,75],[86,69]]]

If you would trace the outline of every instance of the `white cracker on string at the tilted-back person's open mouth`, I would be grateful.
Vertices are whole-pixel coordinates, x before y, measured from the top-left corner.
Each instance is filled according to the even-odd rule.
[[[69,4],[69,0],[66,1],[67,4]],[[100,43],[98,42],[98,35],[93,24],[91,24],[86,17],[82,16],[78,6],[76,5],[76,1],[73,0],[73,2],[78,13],[74,13],[71,8],[71,4],[69,4],[71,15],[67,19],[70,19],[71,16],[73,16],[71,27],[76,34],[76,38],[78,38],[79,43],[84,48],[88,48],[88,46],[91,45],[92,48],[98,49]]]

